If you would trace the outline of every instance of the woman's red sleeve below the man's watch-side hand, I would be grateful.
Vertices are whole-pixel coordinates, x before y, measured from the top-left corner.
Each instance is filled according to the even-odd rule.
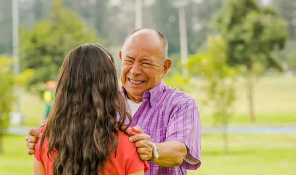
[[[144,169],[144,172],[147,172],[149,168],[150,167],[148,163],[139,158],[139,153],[137,152],[137,149],[135,149],[135,152],[132,157],[131,165],[127,170],[127,174],[136,173],[142,169]]]

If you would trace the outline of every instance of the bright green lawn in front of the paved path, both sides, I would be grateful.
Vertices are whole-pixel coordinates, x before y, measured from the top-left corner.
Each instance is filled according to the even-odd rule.
[[[4,136],[0,175],[32,175],[33,156],[26,136]],[[230,134],[229,153],[222,154],[220,134],[202,137],[202,164],[188,175],[294,175],[296,134]]]

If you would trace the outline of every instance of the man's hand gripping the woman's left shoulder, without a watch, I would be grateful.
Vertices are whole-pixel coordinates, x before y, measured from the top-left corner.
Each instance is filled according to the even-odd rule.
[[[41,122],[41,126],[44,124],[46,124],[46,121]],[[29,134],[26,137],[27,148],[28,148],[27,153],[29,155],[35,154],[35,146],[36,146],[36,143],[38,142],[38,139],[41,138],[41,136],[42,134],[36,128],[31,128],[29,130]]]

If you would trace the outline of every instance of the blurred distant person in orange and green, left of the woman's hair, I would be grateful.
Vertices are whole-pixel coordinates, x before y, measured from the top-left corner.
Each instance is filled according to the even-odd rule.
[[[46,90],[43,92],[43,100],[45,103],[45,114],[44,114],[45,119],[48,118],[48,114],[50,112],[50,109],[54,101],[54,89],[55,89],[55,82],[48,81],[46,83]]]

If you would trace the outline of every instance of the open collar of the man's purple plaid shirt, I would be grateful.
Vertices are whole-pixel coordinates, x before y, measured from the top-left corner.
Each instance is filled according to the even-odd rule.
[[[121,93],[123,94],[123,96],[126,100],[127,94],[126,94],[126,90],[124,89],[124,87],[120,86],[119,90],[121,91]],[[163,90],[164,90],[164,83],[161,80],[154,88],[150,89],[149,91],[144,92],[143,101],[145,99],[147,99],[151,106],[154,105],[157,102],[157,99],[158,99],[158,97],[160,97]]]

